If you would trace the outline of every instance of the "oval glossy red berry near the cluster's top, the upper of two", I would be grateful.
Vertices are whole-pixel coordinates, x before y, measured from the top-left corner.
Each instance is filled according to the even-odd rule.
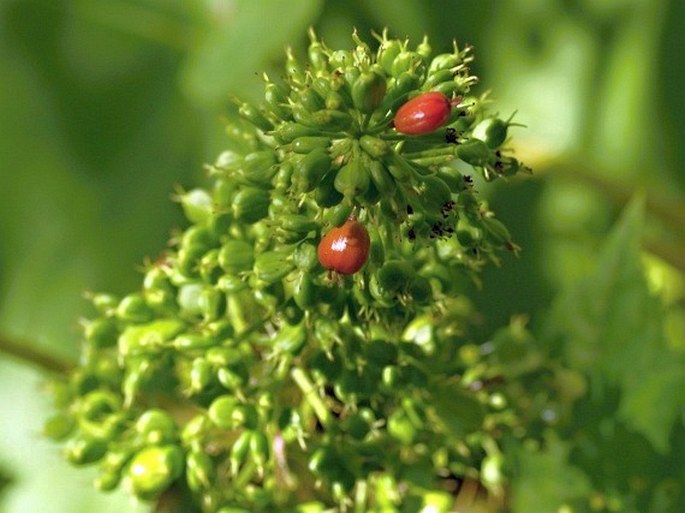
[[[420,94],[397,110],[395,128],[407,135],[429,134],[447,122],[451,111],[452,105],[444,94]]]

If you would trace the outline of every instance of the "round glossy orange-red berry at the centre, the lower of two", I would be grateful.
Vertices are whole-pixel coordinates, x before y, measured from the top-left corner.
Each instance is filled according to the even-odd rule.
[[[333,228],[319,242],[317,255],[321,265],[340,274],[354,274],[369,258],[369,232],[355,219]]]

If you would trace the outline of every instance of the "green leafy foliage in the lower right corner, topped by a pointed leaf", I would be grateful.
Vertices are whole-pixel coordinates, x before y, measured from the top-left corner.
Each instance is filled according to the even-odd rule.
[[[678,511],[685,500],[674,487],[682,468],[672,461],[673,445],[682,444],[685,355],[669,347],[664,306],[644,280],[643,220],[637,198],[594,269],[563,291],[545,319],[549,355],[525,378],[549,386],[527,407],[542,421],[544,441],[508,446],[514,511],[651,511],[656,503]],[[521,353],[515,359],[520,364]]]

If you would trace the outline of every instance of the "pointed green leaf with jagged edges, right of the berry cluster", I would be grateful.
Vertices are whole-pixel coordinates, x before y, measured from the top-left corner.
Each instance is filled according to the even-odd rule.
[[[683,355],[669,349],[664,312],[651,296],[640,260],[643,202],[633,201],[597,257],[594,270],[562,294],[547,339],[562,344],[568,362],[618,386],[618,416],[662,452],[685,405]],[[597,388],[599,387],[599,388]]]

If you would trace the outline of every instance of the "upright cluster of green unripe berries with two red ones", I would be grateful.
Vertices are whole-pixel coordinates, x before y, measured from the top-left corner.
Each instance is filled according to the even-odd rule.
[[[99,489],[207,513],[448,511],[497,452],[460,284],[516,246],[460,169],[525,169],[511,122],[470,94],[470,48],[353,40],[289,51],[264,104],[239,103],[211,190],[179,191],[191,226],[140,290],[93,296],[46,429]]]

